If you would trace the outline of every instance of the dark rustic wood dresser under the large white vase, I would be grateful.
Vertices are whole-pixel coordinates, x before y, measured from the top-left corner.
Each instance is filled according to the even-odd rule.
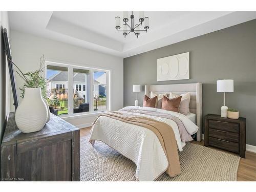
[[[79,181],[80,130],[51,114],[42,130],[22,133],[14,115],[1,145],[1,180]]]

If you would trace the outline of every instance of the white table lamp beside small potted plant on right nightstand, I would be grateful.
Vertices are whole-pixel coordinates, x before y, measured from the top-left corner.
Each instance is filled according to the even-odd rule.
[[[221,117],[227,117],[226,92],[234,92],[234,80],[217,80],[217,92],[224,92],[224,105],[221,107]]]

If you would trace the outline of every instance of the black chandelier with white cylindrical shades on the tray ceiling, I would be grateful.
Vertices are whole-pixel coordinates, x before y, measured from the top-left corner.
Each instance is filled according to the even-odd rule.
[[[140,34],[140,31],[145,31],[147,32],[147,30],[150,28],[150,20],[148,17],[144,17],[144,11],[140,11],[139,12],[139,24],[134,25],[134,15],[133,15],[133,11],[132,14],[130,16],[131,18],[131,26],[129,24],[127,24],[127,22],[129,21],[128,18],[128,11],[123,11],[123,22],[124,24],[122,25],[123,28],[121,29],[121,19],[119,16],[117,16],[116,19],[116,29],[117,32],[119,31],[123,31],[123,35],[124,38],[126,37],[126,35],[128,35],[129,33],[134,33],[137,38]],[[142,27],[142,23],[144,24],[144,29],[140,29],[140,26]]]

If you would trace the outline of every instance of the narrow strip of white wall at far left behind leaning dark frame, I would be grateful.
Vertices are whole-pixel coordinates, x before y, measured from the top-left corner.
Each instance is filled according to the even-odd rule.
[[[9,116],[10,111],[10,101],[9,101],[9,93],[10,93],[10,76],[4,51],[4,40],[2,35],[2,30],[4,28],[7,29],[9,34],[9,22],[8,22],[8,14],[6,11],[0,12],[0,27],[1,27],[1,35],[0,35],[0,146],[2,142],[3,133],[5,130],[5,124],[7,122],[7,118]],[[9,34],[10,35],[10,34]],[[1,167],[0,167],[1,172]]]

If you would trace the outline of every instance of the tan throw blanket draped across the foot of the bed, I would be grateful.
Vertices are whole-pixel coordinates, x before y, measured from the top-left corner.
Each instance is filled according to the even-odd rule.
[[[153,131],[158,137],[169,163],[169,166],[166,169],[166,173],[170,177],[175,177],[181,173],[177,142],[175,139],[174,131],[168,124],[132,114],[125,114],[121,112],[106,112],[100,114],[93,122],[93,125],[100,116],[106,116],[126,123],[135,124]],[[90,140],[90,142],[93,143],[94,141]]]

